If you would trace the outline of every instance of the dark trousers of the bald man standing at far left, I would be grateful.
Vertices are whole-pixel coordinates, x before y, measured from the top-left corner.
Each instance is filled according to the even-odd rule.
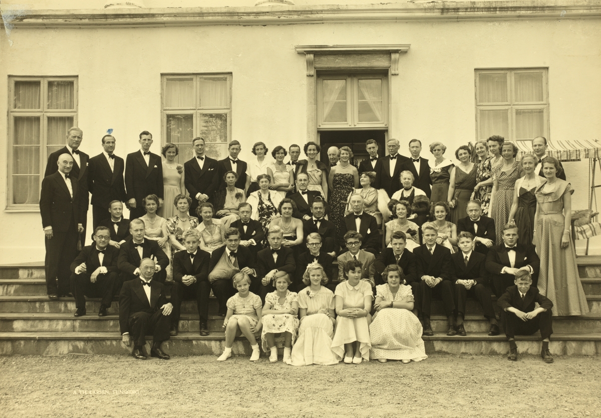
[[[46,269],[47,294],[64,295],[70,292],[71,270],[69,267],[77,256],[78,236],[77,226],[72,223],[67,232],[53,231],[52,238],[45,238],[44,267]]]

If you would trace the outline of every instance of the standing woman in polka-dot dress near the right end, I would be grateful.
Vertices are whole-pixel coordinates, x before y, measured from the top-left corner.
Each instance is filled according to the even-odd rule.
[[[493,168],[492,178],[494,185],[490,201],[494,202],[490,207],[490,217],[495,221],[496,244],[503,242],[503,227],[509,221],[509,212],[513,204],[513,188],[517,179],[522,177],[522,165],[516,160],[517,147],[515,144],[506,142],[501,147],[503,164]]]

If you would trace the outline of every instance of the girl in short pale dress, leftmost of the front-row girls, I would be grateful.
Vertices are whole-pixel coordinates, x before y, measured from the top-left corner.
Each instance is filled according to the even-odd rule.
[[[225,361],[231,357],[231,346],[234,339],[241,335],[251,343],[251,361],[259,359],[259,345],[255,334],[261,329],[261,298],[249,289],[251,278],[246,273],[239,272],[232,278],[238,293],[227,301],[227,314],[225,315],[225,350],[217,361]]]

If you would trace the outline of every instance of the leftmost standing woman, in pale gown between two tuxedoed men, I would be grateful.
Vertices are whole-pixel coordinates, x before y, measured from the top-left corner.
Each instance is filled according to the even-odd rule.
[[[159,207],[157,214],[167,219],[175,216],[173,200],[178,194],[186,194],[184,185],[184,166],[175,162],[179,149],[175,144],[165,144],[161,150],[163,161],[163,206]]]

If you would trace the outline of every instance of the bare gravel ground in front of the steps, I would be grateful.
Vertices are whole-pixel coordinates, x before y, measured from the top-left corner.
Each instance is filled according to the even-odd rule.
[[[601,361],[433,354],[403,365],[261,357],[0,357],[1,417],[599,417]]]

